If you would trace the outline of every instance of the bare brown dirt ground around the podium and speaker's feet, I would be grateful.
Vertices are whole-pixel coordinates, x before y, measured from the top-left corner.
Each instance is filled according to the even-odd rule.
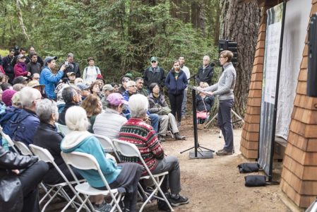
[[[200,127],[202,128],[202,127]],[[247,162],[239,152],[241,129],[234,129],[234,155],[217,156],[211,159],[189,159],[189,151],[180,153],[193,146],[193,124],[191,119],[182,121],[181,134],[185,141],[174,141],[167,137],[162,143],[168,155],[179,158],[181,167],[181,194],[189,196],[190,203],[175,207],[175,211],[291,211],[283,204],[279,185],[267,187],[245,187],[244,176],[237,165]],[[221,149],[223,138],[219,129],[198,130],[198,142],[205,148],[215,151]],[[254,162],[254,161],[252,161]],[[264,175],[252,173],[252,175]],[[47,211],[60,211],[63,203],[50,206]],[[138,204],[140,206],[140,203]],[[69,208],[67,211],[73,211]],[[144,211],[158,211],[156,202],[145,206]]]

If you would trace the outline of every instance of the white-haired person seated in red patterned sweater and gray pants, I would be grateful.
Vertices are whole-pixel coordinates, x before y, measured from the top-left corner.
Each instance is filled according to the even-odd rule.
[[[179,195],[181,191],[179,160],[172,155],[165,156],[154,129],[143,121],[148,110],[148,98],[141,94],[132,95],[128,100],[128,107],[131,119],[128,119],[128,122],[121,127],[119,139],[138,147],[152,174],[169,172],[169,177],[164,179],[161,187],[164,193],[168,192],[168,187],[170,188],[172,206],[188,204],[189,198]],[[137,158],[129,158],[129,161],[140,163]],[[146,174],[145,170],[143,174]]]

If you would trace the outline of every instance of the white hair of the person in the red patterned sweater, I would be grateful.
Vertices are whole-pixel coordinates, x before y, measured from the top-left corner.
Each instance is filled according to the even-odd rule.
[[[133,118],[143,117],[148,111],[148,98],[141,94],[131,95],[128,100],[128,110]]]

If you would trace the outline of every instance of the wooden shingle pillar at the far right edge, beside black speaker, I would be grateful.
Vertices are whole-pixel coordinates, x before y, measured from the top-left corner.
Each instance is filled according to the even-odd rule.
[[[317,0],[312,4],[311,15],[317,12]],[[280,184],[301,208],[308,207],[317,196],[317,98],[306,95],[307,54],[305,45]]]

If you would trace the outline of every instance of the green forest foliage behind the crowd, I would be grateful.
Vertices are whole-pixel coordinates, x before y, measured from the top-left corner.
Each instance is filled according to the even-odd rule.
[[[127,72],[141,76],[152,56],[158,57],[160,66],[168,71],[172,61],[183,55],[191,73],[196,73],[203,55],[217,57],[210,27],[203,35],[190,23],[172,18],[169,1],[158,1],[154,6],[145,2],[20,0],[28,41],[16,15],[15,1],[2,0],[0,43],[6,48],[35,45],[42,57],[56,55],[59,62],[73,52],[82,70],[92,56],[109,81]],[[207,17],[210,23],[214,20],[211,16]]]

